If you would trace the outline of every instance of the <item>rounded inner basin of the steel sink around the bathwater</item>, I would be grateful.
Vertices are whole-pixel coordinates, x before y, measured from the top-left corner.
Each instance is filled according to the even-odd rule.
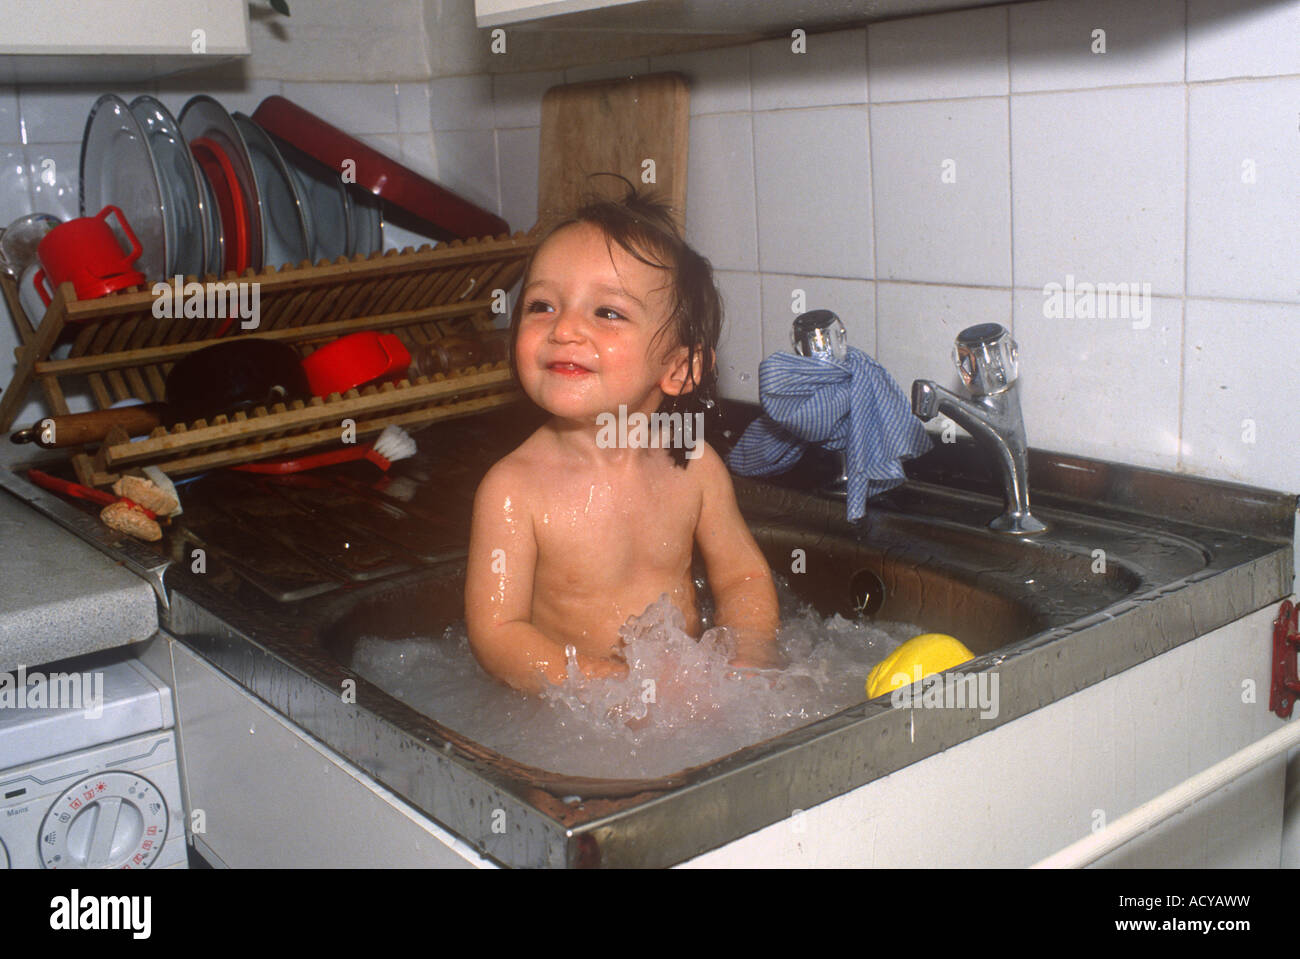
[[[1204,550],[1178,537],[1065,513],[1052,515],[1050,534],[1009,539],[984,526],[985,498],[920,482],[879,498],[855,525],[844,520],[838,503],[753,481],[737,482],[737,498],[779,582],[798,604],[823,617],[911,624],[896,642],[922,632],[957,635],[980,658],[962,667],[963,672],[989,668],[1034,637],[1206,565]],[[1093,555],[1096,550],[1105,552],[1105,564]],[[508,712],[521,697],[491,684],[468,700],[451,691],[428,695],[410,674],[425,652],[443,671],[469,673],[458,682],[480,680],[469,663],[463,625],[456,629],[464,620],[464,581],[465,567],[458,561],[339,596],[313,615],[321,624],[313,642],[339,667],[377,687],[376,694],[426,715],[467,755],[491,755],[512,774],[556,798],[621,797],[693,778],[699,763],[634,781],[575,774],[560,765],[540,768],[529,759],[530,745],[498,745],[498,738],[514,741],[495,717],[485,722],[481,716],[485,710]],[[403,641],[417,645],[400,647],[400,669],[394,668],[391,655],[376,656],[374,643]],[[425,651],[421,643],[441,648]],[[452,648],[458,645],[459,652]],[[876,659],[884,654],[881,648]],[[857,698],[846,708],[866,698],[864,678],[864,672],[857,678]],[[549,713],[526,715],[520,721],[551,721]],[[826,716],[793,725],[818,719]],[[733,743],[728,752],[760,741],[767,737]],[[585,767],[584,759],[569,761]]]

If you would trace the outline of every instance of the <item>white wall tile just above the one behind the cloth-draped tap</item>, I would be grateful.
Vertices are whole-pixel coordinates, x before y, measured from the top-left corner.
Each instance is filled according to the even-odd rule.
[[[871,278],[866,107],[754,114],[763,272]]]

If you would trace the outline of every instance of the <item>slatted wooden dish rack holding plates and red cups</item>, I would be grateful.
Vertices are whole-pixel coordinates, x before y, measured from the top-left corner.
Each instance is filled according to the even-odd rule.
[[[307,356],[344,334],[378,330],[396,334],[415,355],[441,337],[489,330],[494,325],[493,291],[514,286],[536,244],[534,230],[316,265],[269,266],[242,275],[186,278],[259,283],[260,322],[247,331],[239,329],[238,317],[157,318],[156,298],[150,290],[78,300],[72,283],[58,287],[40,325],[32,327],[18,305],[16,287],[5,278],[22,346],[13,382],[0,394],[0,430],[13,425],[34,379],[40,382],[56,416],[70,412],[66,394],[74,381],[78,386],[88,382],[99,409],[130,398],[164,400],[172,364],[239,335],[286,342]],[[51,359],[60,335],[73,324],[79,329],[68,357]],[[229,334],[220,337],[224,325],[230,327]],[[77,478],[87,486],[112,483],[124,470],[146,465],[182,476],[338,443],[346,420],[355,424],[352,435],[361,442],[390,424],[419,426],[468,416],[517,396],[510,369],[498,363],[451,376],[421,376],[413,382],[402,379],[342,395],[257,407],[170,429],[160,426],[138,442],[116,428],[98,451],[74,452],[72,463]]]

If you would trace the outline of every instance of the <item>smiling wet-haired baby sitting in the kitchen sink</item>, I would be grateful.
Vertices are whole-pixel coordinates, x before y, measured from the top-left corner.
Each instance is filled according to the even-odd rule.
[[[727,468],[688,431],[634,429],[667,411],[702,421],[692,412],[716,385],[720,327],[708,261],[630,185],[533,252],[514,363],[550,420],[480,483],[465,583],[471,648],[497,678],[525,691],[560,684],[566,647],[589,678],[625,674],[619,626],[663,594],[698,637],[696,546],[732,664],[777,664],[772,574]]]

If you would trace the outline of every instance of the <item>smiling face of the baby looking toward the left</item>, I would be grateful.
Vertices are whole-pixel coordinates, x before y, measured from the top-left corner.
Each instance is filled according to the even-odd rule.
[[[569,420],[618,413],[620,404],[629,413],[658,409],[685,355],[671,348],[671,333],[655,342],[671,307],[667,281],[590,224],[555,233],[520,294],[515,357],[524,391]]]

